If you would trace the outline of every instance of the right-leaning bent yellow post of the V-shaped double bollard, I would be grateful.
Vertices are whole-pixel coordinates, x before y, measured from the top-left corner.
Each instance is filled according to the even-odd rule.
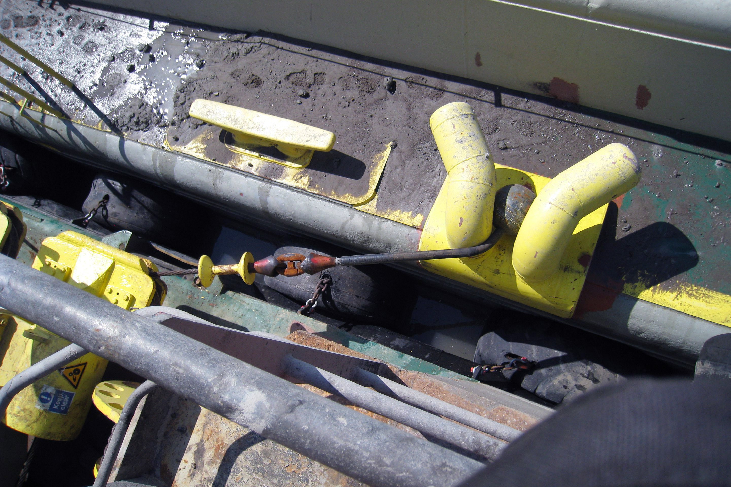
[[[610,144],[569,167],[538,193],[512,250],[512,266],[527,283],[551,277],[577,223],[640,182],[632,150]]]

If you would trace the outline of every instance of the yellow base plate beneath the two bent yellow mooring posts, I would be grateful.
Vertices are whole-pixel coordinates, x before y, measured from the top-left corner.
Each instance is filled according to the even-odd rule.
[[[495,169],[498,188],[509,184],[520,184],[539,192],[550,181],[549,177],[500,164],[495,164]],[[426,219],[419,250],[450,248],[444,224],[446,202],[447,185],[442,185],[442,190],[436,196]],[[515,269],[512,268],[512,247],[515,237],[508,235],[502,237],[495,247],[481,256],[422,261],[421,265],[435,274],[473,285],[561,318],[570,318],[574,314],[581,288],[586,280],[588,265],[594,254],[596,241],[599,239],[607,207],[605,204],[581,219],[561,258],[558,272],[539,284],[526,283],[515,274]]]

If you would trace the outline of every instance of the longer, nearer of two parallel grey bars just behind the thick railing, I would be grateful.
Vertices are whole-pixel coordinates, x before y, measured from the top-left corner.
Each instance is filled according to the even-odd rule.
[[[295,379],[302,380],[304,383],[330,394],[339,394],[356,406],[391,418],[418,432],[439,438],[439,440],[444,440],[464,450],[477,453],[486,459],[496,459],[502,449],[507,447],[505,442],[466,428],[461,424],[439,418],[439,416],[379,392],[371,391],[369,388],[298,360],[291,355],[287,356],[284,370]]]

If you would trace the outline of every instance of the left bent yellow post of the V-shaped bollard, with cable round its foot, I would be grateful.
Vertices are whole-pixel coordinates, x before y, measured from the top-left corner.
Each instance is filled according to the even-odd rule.
[[[495,164],[469,104],[457,101],[429,120],[447,168],[447,241],[452,248],[479,245],[490,237],[495,204]]]

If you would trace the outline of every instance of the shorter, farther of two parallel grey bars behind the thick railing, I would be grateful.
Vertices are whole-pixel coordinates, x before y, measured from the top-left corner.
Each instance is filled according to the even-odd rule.
[[[358,382],[363,386],[368,386],[376,389],[381,394],[388,394],[396,396],[401,401],[408,402],[422,409],[431,411],[442,415],[446,418],[453,419],[462,424],[466,424],[471,428],[477,429],[481,432],[493,435],[493,437],[499,438],[500,440],[512,441],[515,440],[522,434],[517,429],[513,429],[510,426],[498,423],[489,418],[484,418],[479,414],[471,413],[468,410],[463,410],[461,407],[457,407],[454,404],[444,402],[436,397],[429,396],[420,391],[414,391],[414,389],[406,386],[402,386],[399,383],[388,380],[385,377],[376,375],[373,372],[367,370],[358,370]]]

